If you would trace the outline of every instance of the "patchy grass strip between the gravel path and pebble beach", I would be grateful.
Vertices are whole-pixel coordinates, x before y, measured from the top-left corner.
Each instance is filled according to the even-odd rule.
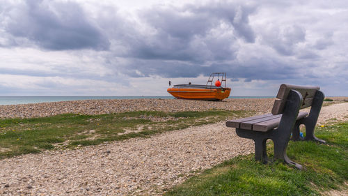
[[[75,148],[102,142],[149,137],[168,130],[240,118],[253,112],[125,112],[117,114],[62,114],[33,119],[0,120],[0,158],[42,150]]]

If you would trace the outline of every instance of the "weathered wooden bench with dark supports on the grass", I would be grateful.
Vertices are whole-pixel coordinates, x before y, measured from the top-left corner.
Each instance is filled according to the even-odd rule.
[[[287,144],[292,140],[301,140],[299,126],[306,126],[304,140],[319,140],[314,135],[315,124],[319,116],[324,93],[318,86],[295,86],[281,84],[271,114],[252,116],[244,119],[230,120],[226,126],[236,128],[239,137],[255,142],[255,159],[267,163],[267,140],[274,142],[274,158],[283,159],[285,163],[302,169],[298,163],[291,161],[286,154]],[[310,112],[299,112],[301,108],[310,107]]]

